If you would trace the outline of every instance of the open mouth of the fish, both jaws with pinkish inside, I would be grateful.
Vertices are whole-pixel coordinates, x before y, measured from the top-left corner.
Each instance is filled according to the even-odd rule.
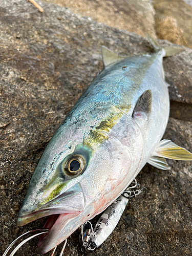
[[[36,205],[40,205],[40,207],[37,208]],[[37,202],[36,205],[32,208],[30,200],[24,201],[19,212],[17,225],[23,226],[49,216],[44,225],[44,228],[48,228],[49,232],[40,236],[37,245],[38,253],[44,254],[68,238],[81,225],[79,216],[85,207],[83,191],[76,184],[52,201],[46,204]]]

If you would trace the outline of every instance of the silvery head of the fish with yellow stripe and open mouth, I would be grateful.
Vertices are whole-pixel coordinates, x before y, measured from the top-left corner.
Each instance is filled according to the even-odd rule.
[[[99,124],[92,119],[60,125],[35,169],[17,224],[49,216],[44,226],[49,232],[40,237],[39,253],[48,252],[103,211],[134,178],[133,148],[130,151],[112,129],[122,113],[107,110],[102,115]],[[133,127],[131,133],[130,138]]]

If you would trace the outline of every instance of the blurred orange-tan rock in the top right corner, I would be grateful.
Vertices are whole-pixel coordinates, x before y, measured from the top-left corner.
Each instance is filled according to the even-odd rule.
[[[160,39],[192,48],[192,7],[185,2],[153,0],[155,30]]]

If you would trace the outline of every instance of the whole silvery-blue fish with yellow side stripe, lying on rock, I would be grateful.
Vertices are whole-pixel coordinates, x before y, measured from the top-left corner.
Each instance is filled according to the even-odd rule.
[[[28,186],[17,225],[49,216],[37,244],[46,253],[110,206],[146,163],[166,170],[167,159],[192,154],[161,140],[169,116],[162,60],[183,50],[118,56],[102,47],[104,69],[78,99],[48,143]]]

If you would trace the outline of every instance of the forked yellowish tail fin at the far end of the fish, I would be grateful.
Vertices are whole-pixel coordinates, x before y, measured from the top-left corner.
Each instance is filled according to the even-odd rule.
[[[174,46],[162,48],[158,45],[156,40],[150,34],[146,33],[146,37],[156,52],[159,51],[160,49],[163,49],[165,51],[164,57],[173,56],[173,55],[185,50],[182,47],[174,47]]]

